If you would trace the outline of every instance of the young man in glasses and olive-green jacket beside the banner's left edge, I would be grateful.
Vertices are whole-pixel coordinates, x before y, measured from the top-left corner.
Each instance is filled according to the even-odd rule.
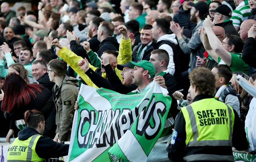
[[[46,72],[50,81],[55,85],[52,89],[53,101],[56,107],[56,135],[54,141],[61,143],[69,141],[74,117],[74,104],[78,96],[78,81],[68,77],[67,63],[60,59],[53,59],[48,64]]]

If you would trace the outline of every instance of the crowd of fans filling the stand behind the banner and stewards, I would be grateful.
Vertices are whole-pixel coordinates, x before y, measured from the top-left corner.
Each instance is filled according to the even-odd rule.
[[[236,111],[250,137],[244,151],[255,154],[255,99],[236,80],[256,82],[255,15],[255,0],[41,0],[16,11],[3,2],[0,135],[17,137],[24,112],[36,109],[43,135],[69,141],[81,83],[129,94],[154,78],[175,119],[194,99],[189,74],[206,67],[213,97]]]

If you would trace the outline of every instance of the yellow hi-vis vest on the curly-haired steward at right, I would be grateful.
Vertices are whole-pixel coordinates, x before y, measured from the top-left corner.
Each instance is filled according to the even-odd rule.
[[[214,98],[202,99],[182,107],[186,122],[186,145],[190,146],[232,146],[232,133],[234,126],[234,112],[231,106],[217,101]],[[233,159],[233,156],[220,156],[200,154],[184,157],[193,161],[220,159]],[[234,159],[233,159],[234,161]]]

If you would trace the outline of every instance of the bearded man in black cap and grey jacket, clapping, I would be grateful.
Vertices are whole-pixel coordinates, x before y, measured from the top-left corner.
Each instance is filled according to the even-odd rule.
[[[180,26],[177,26],[173,22],[171,22],[171,30],[174,34],[176,34],[177,39],[180,44],[181,50],[185,54],[190,54],[190,68],[193,70],[196,67],[196,56],[200,56],[201,58],[204,56],[204,46],[200,40],[200,35],[198,33],[199,27],[202,28],[203,21],[208,14],[208,5],[205,2],[198,2],[196,4],[190,2],[190,6],[192,9],[190,10],[190,21],[195,22],[197,25],[192,31],[192,36],[190,39],[186,38],[181,34],[182,29]],[[183,38],[185,37],[185,39]],[[190,70],[189,70],[190,71]]]

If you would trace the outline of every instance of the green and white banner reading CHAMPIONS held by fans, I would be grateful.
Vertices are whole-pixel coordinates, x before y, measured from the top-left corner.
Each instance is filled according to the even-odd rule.
[[[172,124],[165,123],[172,102],[167,94],[155,81],[148,91],[132,95],[82,85],[68,161],[146,161]]]

